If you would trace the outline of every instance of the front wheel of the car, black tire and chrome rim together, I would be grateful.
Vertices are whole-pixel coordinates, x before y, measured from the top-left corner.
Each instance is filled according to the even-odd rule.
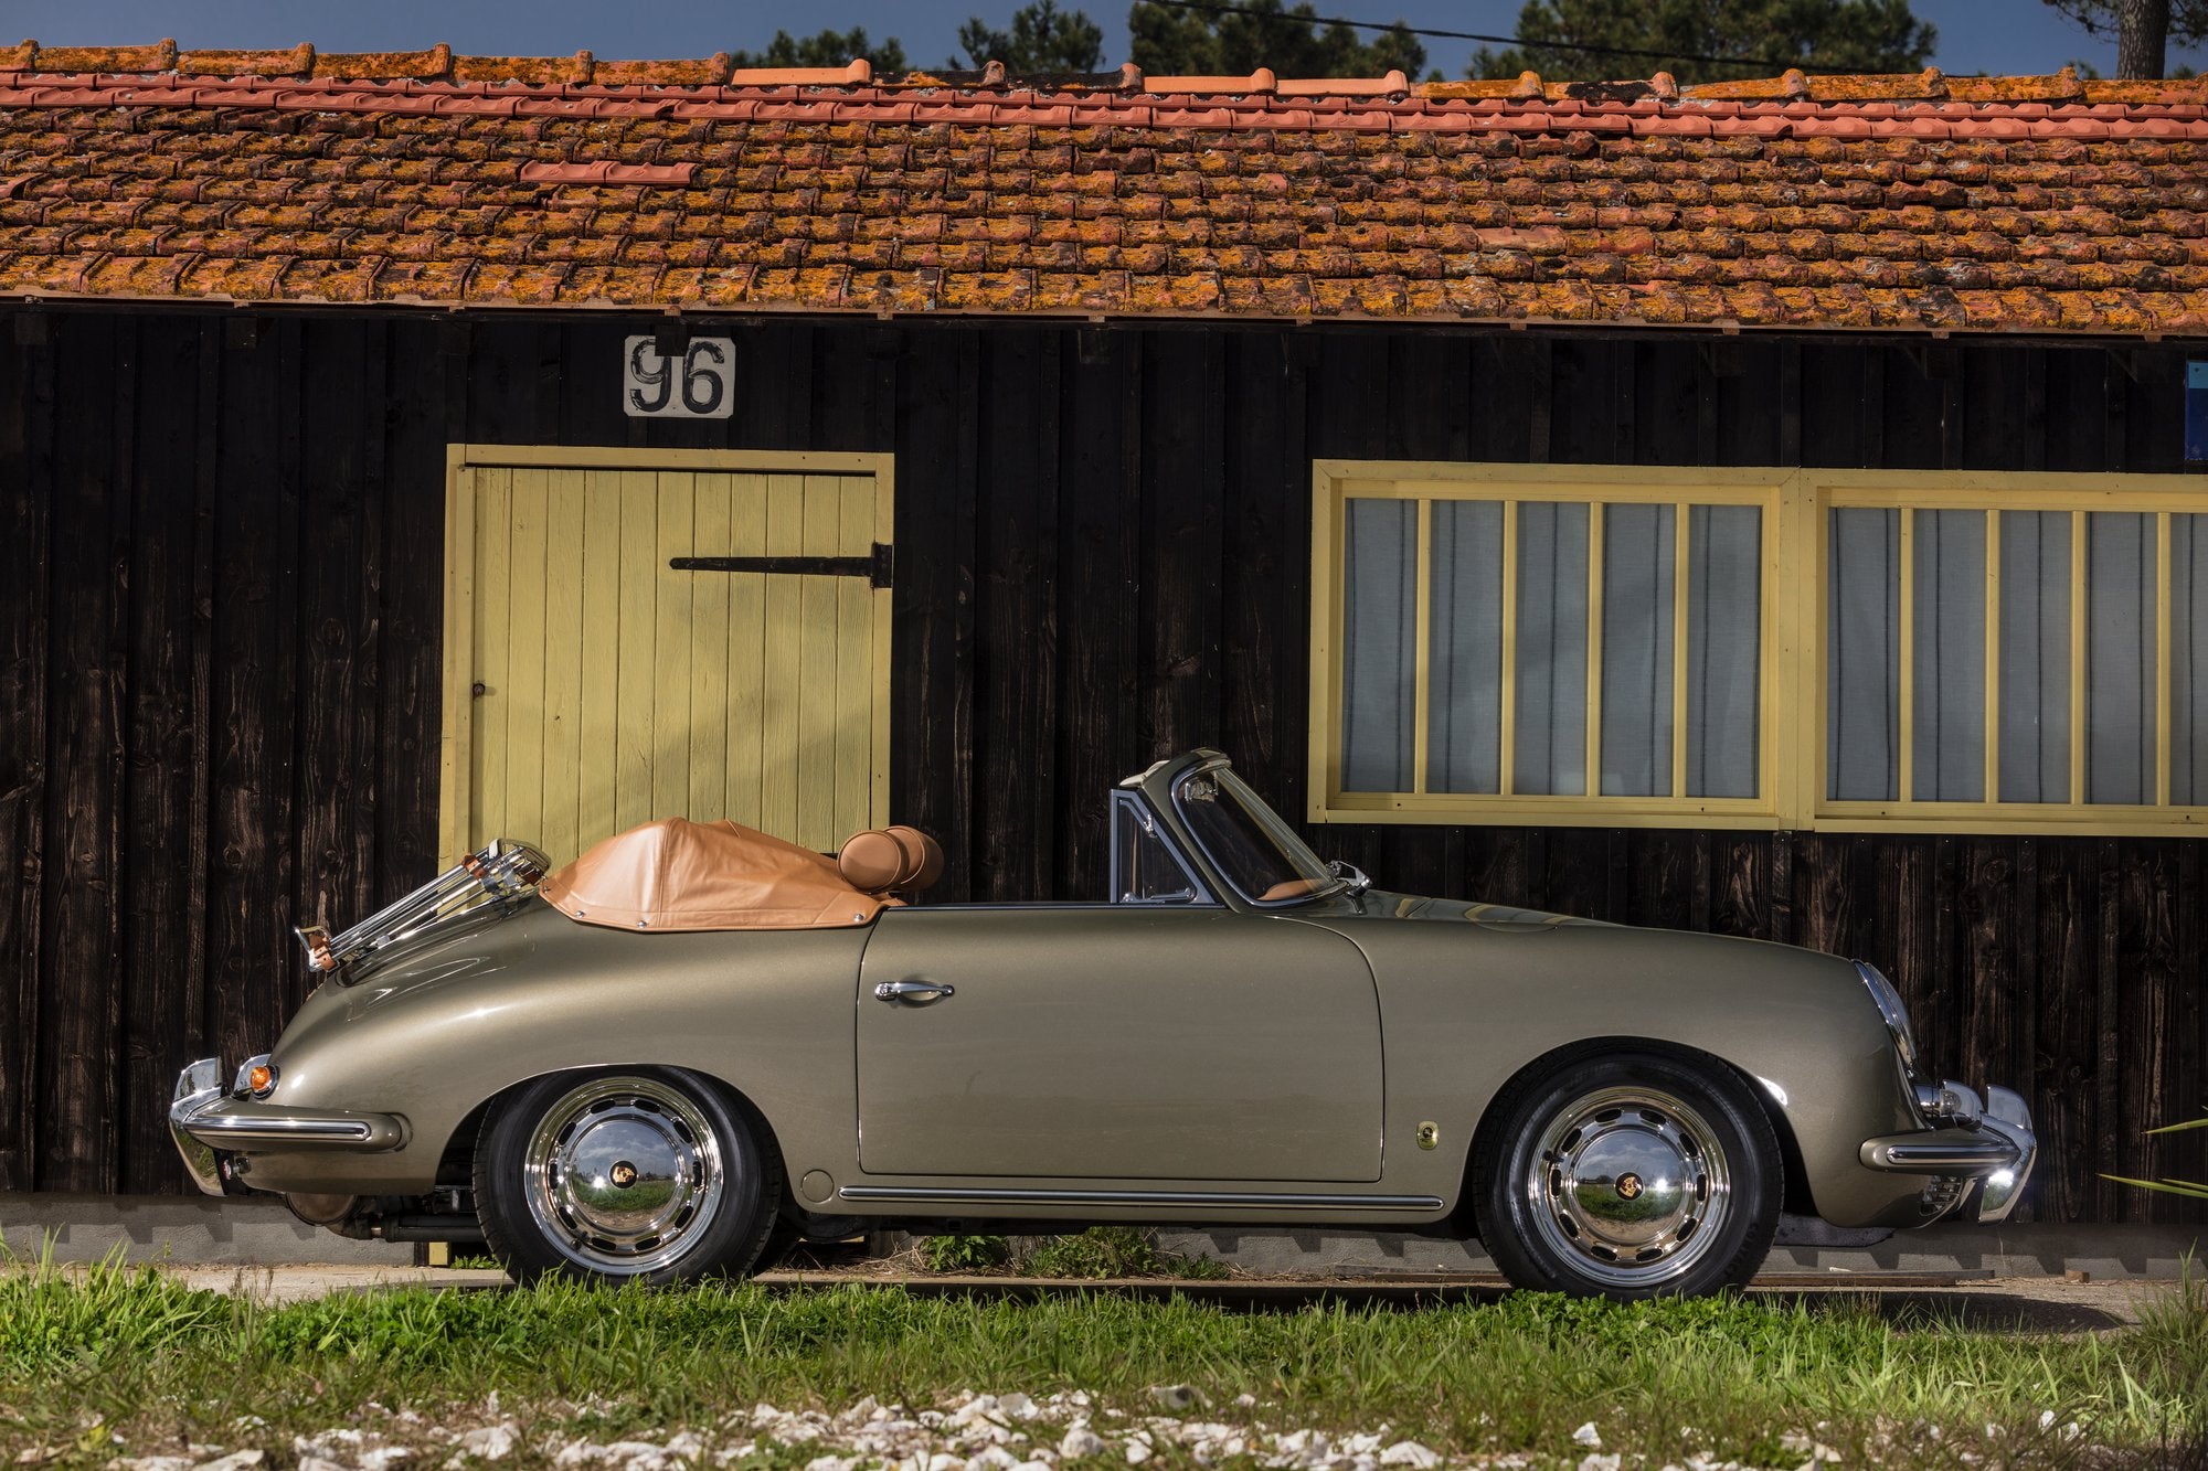
[[[1473,1199],[1519,1288],[1700,1297],[1744,1285],[1771,1252],[1780,1144],[1716,1058],[1577,1056],[1512,1082],[1490,1118]]]

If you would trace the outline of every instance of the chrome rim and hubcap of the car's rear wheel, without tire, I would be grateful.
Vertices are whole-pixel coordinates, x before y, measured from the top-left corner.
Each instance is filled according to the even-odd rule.
[[[521,1190],[561,1257],[590,1272],[656,1272],[702,1237],[726,1195],[720,1137],[654,1078],[592,1078],[530,1135]]]

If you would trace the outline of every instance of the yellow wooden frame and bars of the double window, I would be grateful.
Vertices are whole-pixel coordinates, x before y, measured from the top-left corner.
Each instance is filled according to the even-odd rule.
[[[2076,833],[2168,835],[2208,830],[2208,806],[2175,806],[2170,793],[2170,517],[2208,512],[2208,490],[2170,475],[2049,475],[2007,470],[1800,470],[1800,468],[1689,468],[1689,466],[1526,466],[1318,459],[1312,470],[1312,822],[1464,822],[1541,826],[1687,826],[1687,828],[1815,828],[1833,833]],[[1342,791],[1342,618],[1345,526],[1354,499],[1409,499],[1418,504],[1413,789],[1404,793]],[[1499,777],[1504,793],[1426,791],[1429,634],[1431,634],[1431,523],[1437,501],[1497,501],[1504,512]],[[1517,506],[1535,501],[1585,504],[1588,530],[1588,795],[1515,795],[1515,521]],[[1753,797],[1685,795],[1687,680],[1674,667],[1674,795],[1601,795],[1601,576],[1605,506],[1674,506],[1674,554],[1685,563],[1691,506],[1762,508],[1760,612],[1760,720],[1758,793]],[[1894,508],[1901,512],[1901,669],[1899,669],[1899,780],[1901,800],[1835,802],[1826,793],[1826,607],[1830,596],[1830,512],[1835,508]],[[1987,793],[1998,793],[2000,740],[2000,521],[2003,510],[2056,510],[2073,517],[2071,535],[2071,795],[2084,791],[2087,716],[2087,537],[2084,517],[2102,510],[2155,517],[2155,795],[2151,806],[2089,802],[1917,802],[1910,800],[1912,764],[1912,548],[1917,510],[1981,510],[1987,523],[1987,678],[1985,762]],[[1671,656],[1687,658],[1687,579],[1674,574]]]

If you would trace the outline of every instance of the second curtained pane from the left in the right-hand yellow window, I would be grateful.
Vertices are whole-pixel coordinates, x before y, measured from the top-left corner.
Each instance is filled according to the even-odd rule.
[[[1910,797],[1985,800],[1985,512],[1912,519]]]

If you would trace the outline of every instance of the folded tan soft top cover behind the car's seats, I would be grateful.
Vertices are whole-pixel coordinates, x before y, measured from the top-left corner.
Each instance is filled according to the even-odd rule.
[[[835,859],[733,822],[662,817],[616,833],[537,886],[570,919],[616,930],[815,930],[883,903]]]

